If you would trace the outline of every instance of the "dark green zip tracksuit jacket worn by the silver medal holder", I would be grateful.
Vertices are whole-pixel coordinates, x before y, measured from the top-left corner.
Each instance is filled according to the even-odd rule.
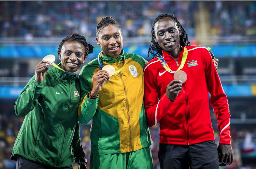
[[[33,76],[15,102],[15,113],[25,116],[14,143],[16,154],[34,162],[66,167],[84,157],[77,121],[80,84],[77,77],[53,67],[42,83]],[[74,154],[74,155],[73,155]]]

